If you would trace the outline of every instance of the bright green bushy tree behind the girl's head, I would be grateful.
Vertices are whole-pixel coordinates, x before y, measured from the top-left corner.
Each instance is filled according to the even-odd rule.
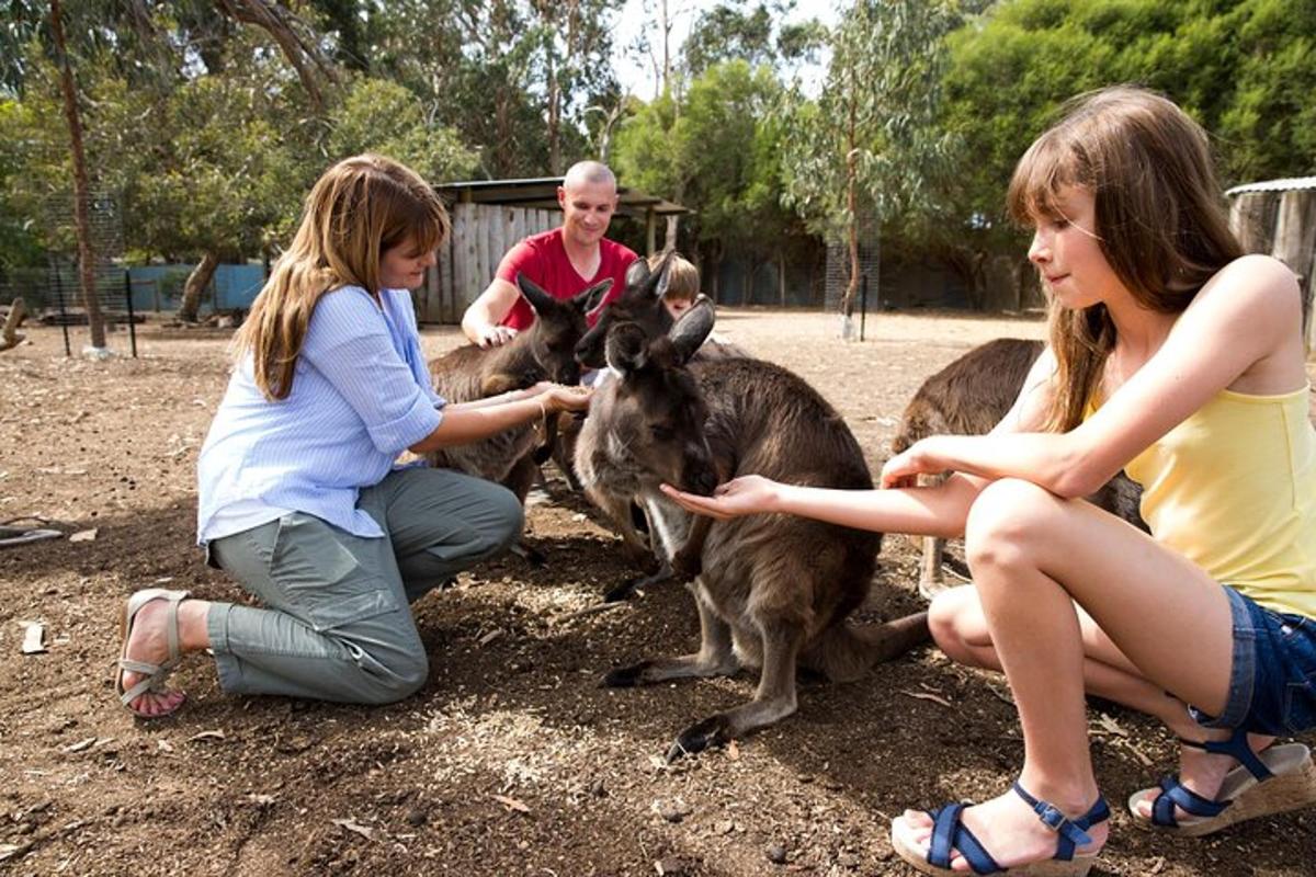
[[[941,124],[962,137],[948,189],[1003,224],[1019,156],[1069,97],[1117,83],[1166,93],[1213,137],[1227,184],[1316,171],[1316,1],[1009,0],[948,41]]]

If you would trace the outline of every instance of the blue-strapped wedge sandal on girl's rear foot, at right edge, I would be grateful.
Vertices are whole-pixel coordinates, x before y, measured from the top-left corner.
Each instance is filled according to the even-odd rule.
[[[1282,743],[1253,752],[1248,746],[1248,732],[1242,728],[1234,731],[1228,740],[1179,743],[1215,755],[1233,756],[1238,767],[1225,774],[1215,801],[1184,786],[1177,773],[1162,777],[1159,786],[1134,792],[1129,797],[1129,813],[1142,828],[1200,838],[1245,819],[1316,803],[1316,767],[1312,765],[1311,749],[1302,743]],[[1149,798],[1150,818],[1137,810],[1137,805]],[[1187,817],[1175,817],[1175,807]]]

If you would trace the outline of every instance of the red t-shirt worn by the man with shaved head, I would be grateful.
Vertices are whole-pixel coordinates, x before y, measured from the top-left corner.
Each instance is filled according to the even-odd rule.
[[[608,302],[621,295],[626,285],[626,268],[637,258],[630,247],[604,238],[599,241],[599,272],[592,277],[582,277],[572,267],[571,259],[567,258],[566,247],[562,246],[562,229],[557,227],[532,234],[508,250],[497,266],[496,276],[515,287],[516,275],[524,273],[545,292],[561,300],[571,298],[588,287],[612,277],[612,289],[604,297],[604,302]],[[597,317],[597,312],[595,312],[595,317]],[[517,297],[501,325],[520,331],[533,322],[534,312],[530,305],[524,297]],[[590,325],[594,323],[595,318],[591,318]]]

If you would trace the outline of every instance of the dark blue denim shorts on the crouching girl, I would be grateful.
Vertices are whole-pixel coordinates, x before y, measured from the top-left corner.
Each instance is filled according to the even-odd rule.
[[[1288,736],[1316,728],[1316,619],[1266,609],[1225,586],[1233,613],[1229,701],[1198,723]]]

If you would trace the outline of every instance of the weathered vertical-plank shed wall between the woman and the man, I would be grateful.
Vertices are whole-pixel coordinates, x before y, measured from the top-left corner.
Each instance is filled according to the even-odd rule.
[[[467,305],[484,292],[503,255],[522,238],[562,224],[558,210],[496,204],[454,204],[453,233],[438,250],[438,264],[416,291],[416,318],[458,323]]]

